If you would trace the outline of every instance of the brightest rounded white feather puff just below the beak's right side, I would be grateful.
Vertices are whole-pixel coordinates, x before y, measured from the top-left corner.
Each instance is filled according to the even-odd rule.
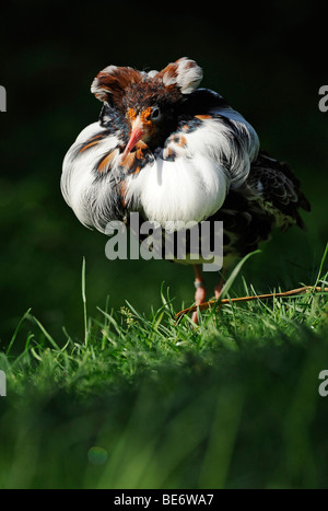
[[[128,178],[126,199],[137,202],[149,220],[167,228],[169,222],[200,222],[214,213],[224,201],[226,186],[224,170],[202,154],[174,162],[157,158],[137,177]]]

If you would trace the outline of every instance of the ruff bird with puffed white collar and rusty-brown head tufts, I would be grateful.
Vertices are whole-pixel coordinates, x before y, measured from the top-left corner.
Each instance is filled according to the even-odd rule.
[[[161,71],[110,65],[91,92],[103,103],[62,164],[61,191],[85,227],[129,225],[132,212],[163,230],[223,222],[223,272],[274,228],[304,228],[311,206],[290,166],[260,149],[255,128],[181,57]],[[175,262],[179,262],[174,259]],[[195,304],[206,300],[192,257]],[[224,278],[214,288],[220,298]],[[198,322],[194,312],[192,321]]]

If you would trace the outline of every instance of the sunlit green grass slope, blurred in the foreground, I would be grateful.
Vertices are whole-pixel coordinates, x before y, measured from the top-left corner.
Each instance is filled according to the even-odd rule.
[[[327,286],[326,256],[306,283]],[[327,488],[327,294],[229,304],[192,327],[164,286],[149,316],[107,300],[90,317],[86,288],[83,262],[83,338],[54,338],[30,310],[0,353],[1,488]]]

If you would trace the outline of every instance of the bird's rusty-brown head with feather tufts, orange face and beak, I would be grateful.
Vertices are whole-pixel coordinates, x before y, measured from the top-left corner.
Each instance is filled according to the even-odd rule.
[[[162,71],[145,72],[117,66],[103,69],[91,91],[104,102],[109,123],[118,117],[128,135],[122,158],[140,140],[156,146],[176,106],[198,88],[201,79],[201,68],[186,57]]]

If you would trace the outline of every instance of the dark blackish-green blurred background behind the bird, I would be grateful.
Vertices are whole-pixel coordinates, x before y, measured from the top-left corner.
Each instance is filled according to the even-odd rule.
[[[328,114],[318,109],[318,90],[328,83],[327,13],[304,1],[188,5],[2,5],[0,349],[28,307],[59,341],[63,325],[73,338],[82,336],[83,256],[92,315],[107,294],[114,309],[128,300],[149,313],[163,280],[177,310],[192,302],[190,268],[108,262],[106,237],[83,228],[61,197],[66,151],[99,113],[91,82],[112,63],[162,69],[188,56],[203,68],[202,85],[253,124],[262,149],[291,164],[313,206],[306,232],[277,233],[244,274],[258,292],[313,283],[327,240]]]

